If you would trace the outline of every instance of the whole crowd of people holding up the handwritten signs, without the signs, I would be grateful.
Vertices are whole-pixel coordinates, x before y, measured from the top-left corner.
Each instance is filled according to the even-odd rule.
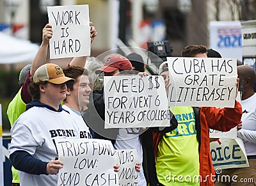
[[[90,24],[93,42],[97,32]],[[51,37],[52,27],[47,24],[35,59],[20,72],[21,88],[8,106],[7,114],[12,125],[9,151],[13,186],[57,185],[58,172],[65,164],[56,159],[58,151],[54,140],[61,137],[108,139],[116,150],[136,149],[138,162],[135,169],[139,186],[230,185],[232,183],[212,180],[215,171],[209,128],[227,132],[236,126],[237,136],[244,141],[250,167],[227,169],[225,174],[252,177],[252,185],[255,185],[253,86],[256,75],[250,66],[237,66],[236,93],[241,91],[242,101],[240,104],[235,100],[234,108],[170,107],[168,127],[105,129],[106,107],[101,76],[147,76],[143,59],[136,53],[126,57],[113,54],[106,56],[104,61],[83,56],[73,58],[61,69],[56,64],[46,63]],[[207,50],[204,45],[188,45],[180,56],[221,58],[218,52]],[[167,96],[170,74],[166,61],[159,66],[159,75],[164,79]],[[183,115],[189,117],[180,117]],[[193,125],[193,131],[186,135],[182,133],[184,123]],[[119,171],[119,165],[113,169]],[[201,179],[189,181],[185,175],[191,178],[200,176]]]

